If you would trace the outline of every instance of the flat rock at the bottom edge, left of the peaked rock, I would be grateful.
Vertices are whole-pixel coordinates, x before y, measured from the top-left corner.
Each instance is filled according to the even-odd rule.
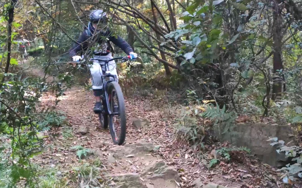
[[[113,181],[117,182],[116,188],[142,188],[143,182],[138,173],[113,175]]]

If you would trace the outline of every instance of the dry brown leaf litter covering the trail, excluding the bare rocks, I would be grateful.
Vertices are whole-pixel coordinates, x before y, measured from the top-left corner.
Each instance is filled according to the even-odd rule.
[[[72,90],[66,95],[68,98],[60,101],[57,108],[67,113],[67,119],[72,125],[74,133],[77,127],[81,125],[88,126],[89,131],[85,136],[74,136],[73,138],[65,139],[62,137],[64,127],[52,128],[47,133],[48,137],[43,138],[47,152],[45,150],[42,155],[37,157],[36,161],[41,165],[59,165],[60,168],[71,169],[72,166],[79,164],[81,161],[77,159],[75,153],[70,151],[67,145],[81,145],[85,148],[89,147],[101,151],[102,154],[98,155],[98,157],[102,160],[107,160],[109,156],[108,150],[114,145],[110,144],[111,136],[109,131],[100,129],[98,117],[89,116],[93,107],[92,94],[83,90]],[[42,106],[53,106],[54,97],[45,95],[43,98],[45,100],[42,100]],[[280,179],[277,178],[278,173],[273,168],[259,164],[257,160],[247,157],[241,157],[238,159],[239,161],[231,160],[229,163],[220,161],[214,168],[208,169],[205,163],[207,157],[214,158],[213,153],[215,152],[213,151],[226,143],[217,142],[205,146],[205,150],[201,151],[202,155],[200,155],[198,149],[194,149],[187,142],[175,139],[173,117],[165,117],[165,112],[161,110],[162,106],[158,106],[158,101],[153,98],[134,98],[134,96],[125,99],[128,120],[131,118],[147,119],[152,127],[151,129],[136,130],[128,124],[125,145],[135,142],[152,142],[156,145],[155,154],[152,155],[160,156],[168,165],[177,169],[181,178],[180,183],[176,182],[178,187],[194,186],[193,181],[197,178],[201,178],[204,184],[217,182],[217,184],[228,187],[278,187],[277,185],[281,184]],[[58,134],[59,139],[52,137],[54,133]],[[59,147],[57,147],[59,144],[58,140],[62,141]],[[56,149],[51,149],[53,147]],[[60,153],[57,152],[58,148],[62,148]],[[148,155],[150,154],[146,156]],[[45,162],[42,156],[51,160]],[[135,155],[127,155],[126,157],[133,158]],[[83,159],[83,161],[85,160],[89,160],[89,157],[88,159]],[[135,161],[126,160],[125,163],[117,161],[117,164],[121,166],[119,167],[121,172],[141,172],[144,166],[149,165],[149,162],[135,164]],[[117,166],[112,164],[109,166],[104,165],[104,167],[109,171],[117,168]],[[144,181],[144,179],[141,180]]]

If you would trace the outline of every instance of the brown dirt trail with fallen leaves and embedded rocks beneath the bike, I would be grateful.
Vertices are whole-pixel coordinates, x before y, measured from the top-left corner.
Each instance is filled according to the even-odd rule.
[[[266,170],[262,165],[249,163],[245,166],[231,166],[220,163],[219,168],[208,170],[206,165],[195,158],[195,151],[191,146],[175,142],[171,119],[159,110],[158,100],[125,97],[126,141],[124,145],[117,146],[112,143],[109,130],[100,128],[98,116],[92,111],[92,92],[74,87],[64,93],[65,95],[59,98],[57,110],[66,113],[75,137],[63,139],[66,127],[43,133],[57,135],[56,138],[45,138],[49,149],[42,155],[43,161],[41,162],[39,157],[35,159],[43,165],[69,169],[79,163],[75,151],[70,147],[81,145],[94,151],[90,158],[99,157],[103,161],[107,168],[106,176],[112,180],[113,187],[210,188],[212,184],[205,184],[217,183],[235,188],[255,187],[252,186],[255,178],[259,180],[258,185],[267,181],[262,180],[265,174],[258,173]],[[44,94],[40,106],[53,106],[55,100],[52,94]],[[77,133],[79,128],[88,128],[87,133],[86,130],[83,135]],[[273,183],[264,183],[263,185],[274,186]],[[215,184],[213,187],[217,188]],[[257,186],[259,187],[267,186]]]

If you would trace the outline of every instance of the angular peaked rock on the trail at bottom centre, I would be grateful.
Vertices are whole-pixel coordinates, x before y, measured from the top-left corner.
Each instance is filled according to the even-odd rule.
[[[155,170],[152,174],[147,177],[147,179],[150,180],[156,180],[158,178],[162,178],[166,181],[180,182],[178,172],[173,167],[167,165],[164,165],[161,168]]]

